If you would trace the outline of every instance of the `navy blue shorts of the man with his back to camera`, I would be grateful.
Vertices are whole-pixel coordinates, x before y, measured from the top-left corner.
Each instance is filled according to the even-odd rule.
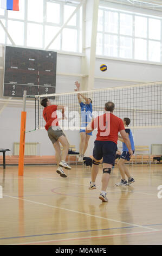
[[[112,141],[95,141],[93,149],[93,157],[96,160],[101,160],[103,163],[114,164],[117,151],[116,143]]]

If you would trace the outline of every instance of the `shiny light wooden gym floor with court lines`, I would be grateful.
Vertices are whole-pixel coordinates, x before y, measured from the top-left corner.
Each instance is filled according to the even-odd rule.
[[[55,166],[0,167],[0,245],[162,245],[162,166],[130,166],[134,184],[115,187],[112,171],[108,203],[88,190],[90,169],[72,166],[61,178]]]

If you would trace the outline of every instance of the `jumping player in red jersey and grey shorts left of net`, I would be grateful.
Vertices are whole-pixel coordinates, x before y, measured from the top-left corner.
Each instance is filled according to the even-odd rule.
[[[72,169],[65,161],[69,150],[69,142],[59,126],[56,113],[58,109],[61,109],[62,119],[64,119],[64,106],[51,105],[51,101],[47,97],[42,99],[41,105],[44,107],[43,118],[46,121],[45,129],[48,132],[48,137],[53,143],[56,152],[55,157],[58,167],[56,172],[59,173],[61,177],[67,177],[67,174],[64,173],[62,167],[65,169]],[[63,146],[62,155],[60,143]]]

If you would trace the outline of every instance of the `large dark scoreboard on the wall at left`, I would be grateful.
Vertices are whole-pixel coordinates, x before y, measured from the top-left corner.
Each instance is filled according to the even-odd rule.
[[[56,63],[57,52],[6,46],[3,96],[55,93]]]

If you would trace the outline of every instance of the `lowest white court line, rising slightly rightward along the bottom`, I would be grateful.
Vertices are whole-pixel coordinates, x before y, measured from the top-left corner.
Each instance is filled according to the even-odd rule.
[[[140,234],[147,234],[147,233],[158,232],[158,231],[160,232],[162,230],[155,230],[155,231],[150,230],[150,231],[109,234],[109,235],[98,235],[98,236],[81,236],[81,237],[72,237],[72,238],[66,238],[66,239],[45,240],[45,241],[35,241],[35,242],[25,242],[25,243],[12,243],[11,245],[32,245],[32,244],[37,244],[37,243],[49,243],[49,242],[61,242],[61,241],[70,241],[70,240],[93,239],[93,238],[109,237],[109,236],[140,235]]]

